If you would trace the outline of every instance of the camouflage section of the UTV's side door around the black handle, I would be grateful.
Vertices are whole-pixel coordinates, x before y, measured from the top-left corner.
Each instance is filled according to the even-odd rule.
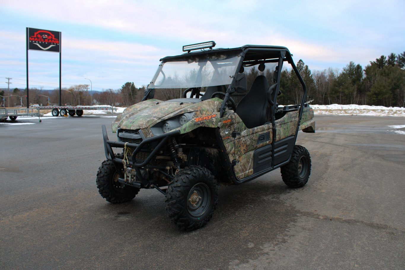
[[[237,163],[234,171],[238,179],[251,176],[253,174],[253,155],[254,151],[260,147],[271,144],[273,138],[272,124],[267,123],[263,126],[257,126],[248,129],[242,122],[242,119],[235,115],[235,131],[239,135],[234,139],[234,160]],[[269,140],[258,144],[259,136],[269,132]]]

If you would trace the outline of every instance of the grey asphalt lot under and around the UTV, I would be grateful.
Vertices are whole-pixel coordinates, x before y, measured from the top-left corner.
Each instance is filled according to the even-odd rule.
[[[315,116],[297,141],[312,159],[305,187],[279,169],[220,187],[192,232],[156,190],[118,205],[98,194],[112,120],[0,125],[0,269],[405,269],[405,135],[388,127],[405,118]]]

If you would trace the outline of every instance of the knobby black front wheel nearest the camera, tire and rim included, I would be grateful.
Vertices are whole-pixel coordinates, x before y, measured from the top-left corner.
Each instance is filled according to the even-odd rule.
[[[199,229],[211,219],[218,203],[217,181],[201,166],[182,169],[166,191],[166,212],[184,231]]]

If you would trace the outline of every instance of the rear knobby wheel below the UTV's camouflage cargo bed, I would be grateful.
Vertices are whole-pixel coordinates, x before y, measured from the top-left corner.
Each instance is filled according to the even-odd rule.
[[[307,148],[294,146],[291,161],[281,167],[281,178],[291,188],[298,188],[307,184],[311,174],[311,156]]]

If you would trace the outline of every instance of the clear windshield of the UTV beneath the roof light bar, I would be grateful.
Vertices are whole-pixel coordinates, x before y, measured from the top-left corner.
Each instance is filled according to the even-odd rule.
[[[232,82],[240,56],[206,54],[163,61],[148,88],[192,88],[227,85]]]

